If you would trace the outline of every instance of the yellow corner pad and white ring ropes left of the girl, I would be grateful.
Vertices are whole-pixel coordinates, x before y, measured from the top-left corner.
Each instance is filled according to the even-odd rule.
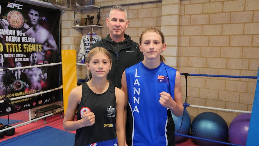
[[[62,50],[61,55],[62,55],[63,59],[62,59],[62,62],[59,62],[59,63],[50,63],[50,64],[35,65],[35,66],[0,69],[0,71],[8,71],[8,70],[26,69],[26,68],[34,68],[34,67],[56,66],[56,65],[62,64],[62,84],[63,84],[58,88],[54,88],[54,89],[50,89],[50,90],[46,90],[46,91],[42,91],[42,92],[38,92],[38,93],[34,93],[34,94],[29,94],[29,95],[24,95],[24,96],[19,96],[19,97],[15,97],[15,98],[9,98],[9,99],[6,98],[5,100],[1,100],[0,103],[4,103],[4,102],[8,103],[11,101],[22,100],[25,98],[42,95],[42,94],[53,92],[53,91],[60,90],[60,89],[63,89],[63,98],[68,99],[70,91],[77,86],[77,84],[76,84],[76,78],[77,78],[76,77],[76,65],[73,63],[73,62],[76,62],[76,52],[75,52],[75,50]],[[65,104],[67,104],[67,102],[65,102]],[[48,104],[46,104],[44,106],[47,107],[47,105]],[[67,105],[65,105],[65,106],[67,106]],[[24,123],[20,123],[20,124],[14,125],[14,126],[9,126],[8,128],[0,130],[0,133],[14,129],[16,127],[20,127],[20,126],[35,122],[37,120],[46,118],[48,116],[52,116],[52,115],[54,115],[56,113],[60,113],[60,112],[64,112],[64,108],[62,108],[60,110],[56,110],[55,112],[46,114],[44,116],[34,118],[33,120],[31,120],[31,118],[30,118],[29,121],[24,122]],[[31,113],[29,113],[29,114],[31,114]],[[9,114],[8,114],[8,125],[9,125]]]

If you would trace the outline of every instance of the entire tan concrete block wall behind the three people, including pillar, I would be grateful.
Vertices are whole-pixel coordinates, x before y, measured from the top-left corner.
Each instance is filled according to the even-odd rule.
[[[130,21],[126,34],[139,43],[147,27],[160,29],[167,49],[166,64],[180,73],[231,76],[257,76],[259,66],[259,3],[258,0],[95,0],[100,7],[103,26],[95,33],[109,34],[106,18],[113,5],[123,5]],[[95,9],[62,14],[62,49],[78,48],[82,35],[90,30],[73,29],[74,20],[96,16]],[[94,18],[94,23],[97,18]],[[85,77],[85,67],[77,67],[77,76]],[[187,77],[187,103],[235,110],[251,110],[256,79]],[[185,78],[182,76],[182,97],[185,101]],[[228,124],[239,113],[187,107],[191,118],[212,111]]]

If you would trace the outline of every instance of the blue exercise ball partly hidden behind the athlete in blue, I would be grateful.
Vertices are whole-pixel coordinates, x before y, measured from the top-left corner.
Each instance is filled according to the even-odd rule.
[[[171,111],[172,114],[172,111]],[[191,128],[191,118],[188,111],[185,109],[181,116],[175,116],[172,114],[175,123],[175,132],[179,134],[187,135]],[[175,141],[181,141],[184,136],[175,135]]]

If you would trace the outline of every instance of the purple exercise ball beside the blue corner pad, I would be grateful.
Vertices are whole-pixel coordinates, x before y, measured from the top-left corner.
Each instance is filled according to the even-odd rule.
[[[231,121],[228,130],[231,143],[240,145],[246,144],[250,119],[251,113],[241,113]]]

